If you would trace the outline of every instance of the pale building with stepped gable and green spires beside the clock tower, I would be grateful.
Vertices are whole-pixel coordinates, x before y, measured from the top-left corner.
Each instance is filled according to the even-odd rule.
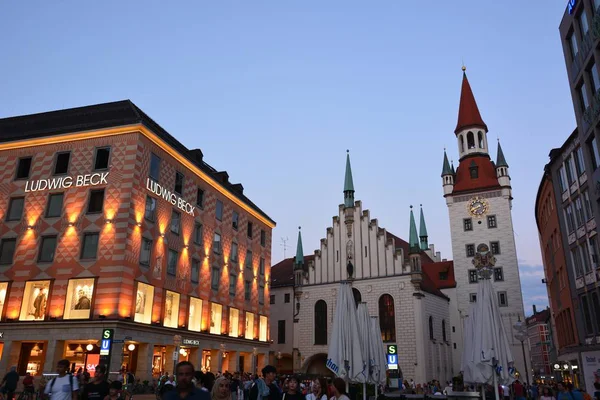
[[[458,373],[452,361],[450,299],[436,285],[454,286],[452,262],[439,262],[439,253],[428,244],[422,211],[420,236],[410,211],[409,243],[381,228],[354,200],[348,156],[344,204],[326,232],[313,255],[304,257],[299,246],[296,257],[273,267],[273,276],[282,268],[289,281],[289,264],[294,264],[294,370],[331,374],[325,362],[337,290],[341,281],[350,281],[357,306],[366,302],[369,314],[379,317],[384,344],[397,345],[400,377],[445,381]],[[273,286],[272,294],[280,291],[285,295],[290,289]]]

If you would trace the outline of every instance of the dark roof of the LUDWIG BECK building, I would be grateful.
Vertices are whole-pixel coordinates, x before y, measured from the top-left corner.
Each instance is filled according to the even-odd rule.
[[[131,100],[2,118],[0,119],[0,142],[28,140],[135,124],[144,125],[200,170],[214,178],[233,196],[271,221],[273,225],[275,224],[275,221],[243,194],[242,185],[232,184],[224,179],[224,177],[228,177],[225,171],[219,172],[205,163],[199,149],[189,150],[133,104]]]

